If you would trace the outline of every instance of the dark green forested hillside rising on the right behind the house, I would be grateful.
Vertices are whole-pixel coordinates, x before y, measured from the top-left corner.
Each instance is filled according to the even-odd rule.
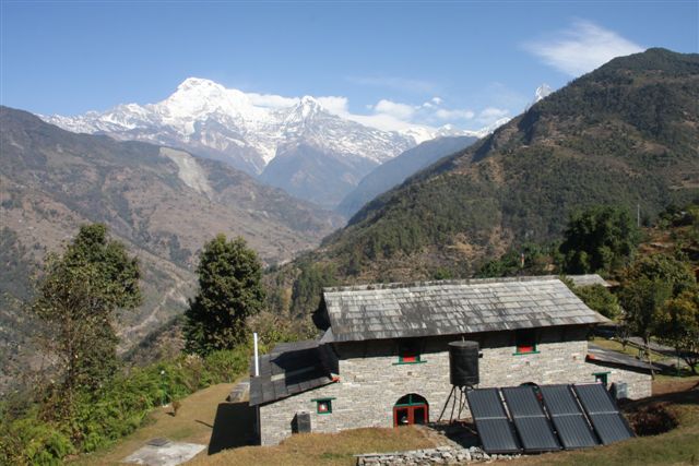
[[[512,246],[559,237],[593,204],[638,205],[650,222],[699,195],[697,101],[699,55],[614,59],[367,204],[285,283],[469,276]]]

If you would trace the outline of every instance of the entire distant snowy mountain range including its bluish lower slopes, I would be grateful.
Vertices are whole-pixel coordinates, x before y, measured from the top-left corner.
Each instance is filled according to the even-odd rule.
[[[145,141],[223,160],[324,206],[339,203],[376,166],[424,141],[483,136],[494,129],[382,131],[333,113],[322,98],[244,93],[199,77],[185,80],[156,104],[40,118],[72,132]]]

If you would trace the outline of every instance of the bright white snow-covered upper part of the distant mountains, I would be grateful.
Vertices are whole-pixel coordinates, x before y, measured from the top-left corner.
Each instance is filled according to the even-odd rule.
[[[106,133],[227,160],[252,175],[286,147],[304,144],[333,157],[381,164],[442,135],[483,135],[452,126],[405,124],[400,131],[364,126],[323,108],[321,100],[247,94],[203,77],[187,77],[155,104],[126,104],[76,117],[43,117],[69,131]]]

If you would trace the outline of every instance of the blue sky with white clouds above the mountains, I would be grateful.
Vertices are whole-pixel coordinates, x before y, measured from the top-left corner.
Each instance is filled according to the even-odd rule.
[[[0,101],[38,113],[155,103],[199,76],[477,129],[615,55],[699,51],[696,0],[0,1]]]

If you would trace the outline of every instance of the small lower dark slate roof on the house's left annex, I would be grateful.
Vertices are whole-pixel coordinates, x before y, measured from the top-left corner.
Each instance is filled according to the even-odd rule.
[[[250,361],[250,406],[285,398],[331,383],[322,367],[318,340],[281,343],[260,357],[260,375]]]

